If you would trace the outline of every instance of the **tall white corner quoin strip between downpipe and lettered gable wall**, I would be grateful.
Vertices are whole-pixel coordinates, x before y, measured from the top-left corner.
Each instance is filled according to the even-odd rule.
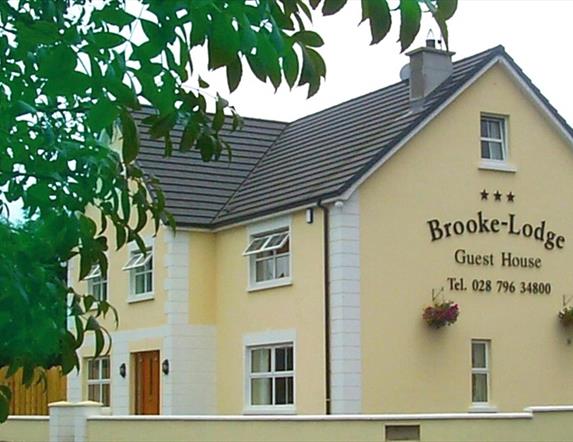
[[[355,192],[329,210],[330,410],[362,411],[360,206]]]

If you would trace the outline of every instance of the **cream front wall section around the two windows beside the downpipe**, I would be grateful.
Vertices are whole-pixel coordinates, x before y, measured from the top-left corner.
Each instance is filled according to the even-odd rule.
[[[324,287],[322,214],[292,217],[292,285],[248,292],[244,226],[216,236],[218,412],[244,409],[245,334],[296,330],[295,402],[298,414],[324,412]]]

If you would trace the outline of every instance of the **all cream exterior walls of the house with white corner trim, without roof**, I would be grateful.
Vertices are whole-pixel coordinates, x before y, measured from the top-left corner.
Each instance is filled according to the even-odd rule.
[[[506,118],[513,171],[480,167],[483,113]],[[498,65],[349,199],[328,207],[333,413],[506,412],[573,402],[573,332],[557,321],[564,300],[573,305],[572,169],[570,145]],[[546,231],[563,235],[563,248],[549,250],[506,230],[432,241],[429,222],[443,227],[479,216],[503,222],[510,215],[519,226],[545,221]],[[120,317],[117,330],[106,322],[113,330],[112,413],[134,412],[133,353],[148,350],[171,363],[170,374],[161,375],[162,413],[261,412],[247,404],[247,347],[284,342],[294,344],[295,405],[283,411],[325,413],[323,216],[315,209],[308,223],[297,210],[176,235],[162,227],[153,239],[154,299],[143,302],[127,302],[128,275],[121,268],[128,250],[110,252],[109,300]],[[253,290],[243,252],[253,231],[276,223],[290,226],[291,281]],[[148,239],[152,233],[144,232]],[[491,255],[492,265],[458,263],[460,250]],[[503,266],[502,253],[539,259],[541,266]],[[480,291],[486,281],[491,291]],[[516,293],[498,293],[497,281],[513,282]],[[551,293],[519,293],[522,282],[550,284]],[[432,291],[459,304],[451,327],[424,324]],[[490,345],[490,400],[480,407],[471,400],[472,340]],[[92,354],[88,343],[82,358]],[[118,372],[122,363],[125,378]],[[70,376],[69,400],[86,398],[85,381],[85,373]]]

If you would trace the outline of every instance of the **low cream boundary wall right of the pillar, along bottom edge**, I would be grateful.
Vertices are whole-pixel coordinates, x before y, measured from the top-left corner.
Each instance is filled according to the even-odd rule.
[[[571,441],[570,413],[535,413],[533,417],[435,420],[91,420],[88,441],[141,442],[293,442],[384,441],[387,425],[420,425],[424,442],[565,442]],[[0,435],[1,435],[0,428]]]

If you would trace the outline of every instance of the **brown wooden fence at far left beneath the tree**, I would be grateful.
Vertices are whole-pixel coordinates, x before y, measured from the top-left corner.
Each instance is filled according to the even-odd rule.
[[[66,378],[57,367],[46,372],[46,383],[34,382],[29,387],[22,385],[21,371],[9,379],[5,378],[4,372],[0,372],[0,384],[8,385],[12,390],[11,415],[47,415],[50,402],[66,400]]]

